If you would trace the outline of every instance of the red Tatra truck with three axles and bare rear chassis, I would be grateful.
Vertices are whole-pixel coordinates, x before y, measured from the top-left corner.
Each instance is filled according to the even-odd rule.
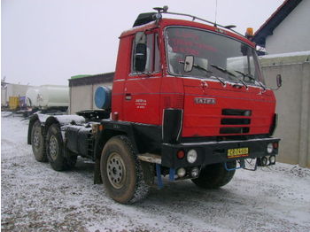
[[[95,95],[103,110],[35,114],[28,128],[36,160],[62,171],[78,156],[92,159],[94,182],[122,204],[161,188],[165,175],[219,188],[248,160],[252,170],[275,165],[280,141],[275,95],[249,36],[154,9],[120,35],[112,90]]]

